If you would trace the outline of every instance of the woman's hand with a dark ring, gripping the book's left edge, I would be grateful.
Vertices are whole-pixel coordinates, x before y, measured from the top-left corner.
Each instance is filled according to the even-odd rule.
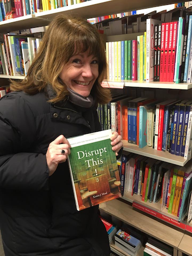
[[[58,164],[66,162],[69,154],[70,144],[63,135],[60,135],[50,143],[46,152],[46,161],[50,171],[49,176],[55,172]]]

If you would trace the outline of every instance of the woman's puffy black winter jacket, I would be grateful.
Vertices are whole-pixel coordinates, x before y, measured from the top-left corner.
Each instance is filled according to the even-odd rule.
[[[100,130],[97,110],[12,92],[0,100],[0,229],[6,256],[108,256],[98,206],[77,211],[68,164],[49,177],[49,143]]]

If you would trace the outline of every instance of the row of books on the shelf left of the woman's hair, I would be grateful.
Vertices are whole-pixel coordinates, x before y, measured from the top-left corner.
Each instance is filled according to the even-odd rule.
[[[42,38],[4,35],[0,45],[0,74],[27,75]]]

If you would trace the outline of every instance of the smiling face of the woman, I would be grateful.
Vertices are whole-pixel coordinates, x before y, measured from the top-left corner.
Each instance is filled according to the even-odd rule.
[[[88,97],[99,75],[98,58],[89,52],[73,55],[63,66],[60,78],[71,90]]]

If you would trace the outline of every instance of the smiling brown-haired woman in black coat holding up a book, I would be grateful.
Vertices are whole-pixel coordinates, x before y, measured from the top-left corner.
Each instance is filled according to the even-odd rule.
[[[57,17],[27,79],[0,101],[0,228],[6,256],[106,256],[98,206],[77,211],[67,138],[100,130],[105,48],[87,21]],[[123,146],[116,132],[111,147]],[[64,151],[65,153],[64,153]]]

